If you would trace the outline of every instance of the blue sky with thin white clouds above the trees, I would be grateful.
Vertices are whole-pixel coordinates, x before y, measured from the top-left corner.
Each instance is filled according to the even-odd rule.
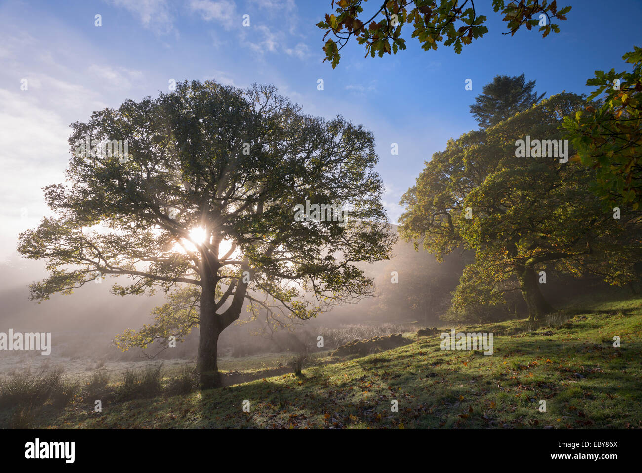
[[[561,32],[502,35],[490,0],[476,0],[489,33],[465,46],[422,51],[410,38],[395,56],[364,58],[352,42],[336,69],[323,63],[315,23],[331,0],[65,0],[0,2],[0,257],[15,251],[19,231],[49,211],[41,188],[62,182],[69,123],[167,91],[170,79],[247,87],[272,83],[304,111],[342,114],[374,132],[384,201],[392,222],[401,195],[424,161],[447,139],[475,129],[469,105],[498,74],[526,74],[546,96],[587,93],[596,69],[623,70],[621,56],[642,46],[642,1],[605,6],[562,0],[573,10]],[[376,3],[378,6],[378,1]],[[372,8],[367,5],[367,7]],[[101,15],[102,26],[94,26]],[[250,15],[250,26],[243,26]],[[26,78],[28,89],[21,91]],[[324,90],[317,91],[317,80]],[[473,91],[465,91],[465,80]],[[399,155],[390,154],[398,143]]]

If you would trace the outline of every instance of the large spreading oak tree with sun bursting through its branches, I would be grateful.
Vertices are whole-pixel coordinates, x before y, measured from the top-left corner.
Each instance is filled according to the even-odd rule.
[[[356,263],[388,258],[372,134],[307,116],[271,86],[186,81],[72,127],[67,183],[45,188],[57,216],[20,237],[19,251],[51,273],[31,298],[107,274],[129,278],[115,294],[168,292],[155,322],[118,343],[166,343],[198,326],[204,385],[219,382],[217,340],[243,307],[272,324],[308,319],[370,294]],[[127,140],[129,156],[83,156],[87,139]],[[343,205],[349,221],[295,221],[306,200]]]

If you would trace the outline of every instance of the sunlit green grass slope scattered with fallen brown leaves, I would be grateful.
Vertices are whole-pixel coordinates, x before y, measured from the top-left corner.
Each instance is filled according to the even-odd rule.
[[[469,428],[642,427],[642,298],[573,310],[562,325],[526,320],[476,325],[494,354],[442,351],[438,335],[349,361],[174,397],[44,409],[35,427]],[[582,312],[581,314],[579,312]],[[618,335],[621,348],[613,348]],[[232,369],[256,370],[261,363]],[[239,361],[240,363],[240,361]],[[229,364],[230,368],[232,367]],[[228,368],[228,369],[230,369]],[[243,412],[244,400],[250,412]],[[397,400],[398,412],[391,401]],[[540,400],[546,412],[540,412]],[[550,428],[550,427],[549,427]]]

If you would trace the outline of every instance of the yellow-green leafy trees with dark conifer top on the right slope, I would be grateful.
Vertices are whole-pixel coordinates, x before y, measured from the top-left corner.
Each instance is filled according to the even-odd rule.
[[[453,297],[462,312],[503,303],[518,290],[530,318],[540,320],[553,311],[541,291],[546,271],[596,274],[614,285],[637,278],[642,213],[605,208],[591,192],[593,167],[542,152],[517,157],[518,140],[564,139],[564,119],[589,106],[569,93],[533,105],[533,86],[521,75],[497,76],[484,87],[471,107],[480,130],[435,153],[401,200],[406,240],[438,258],[461,247],[474,252]],[[506,111],[514,113],[507,118]]]

